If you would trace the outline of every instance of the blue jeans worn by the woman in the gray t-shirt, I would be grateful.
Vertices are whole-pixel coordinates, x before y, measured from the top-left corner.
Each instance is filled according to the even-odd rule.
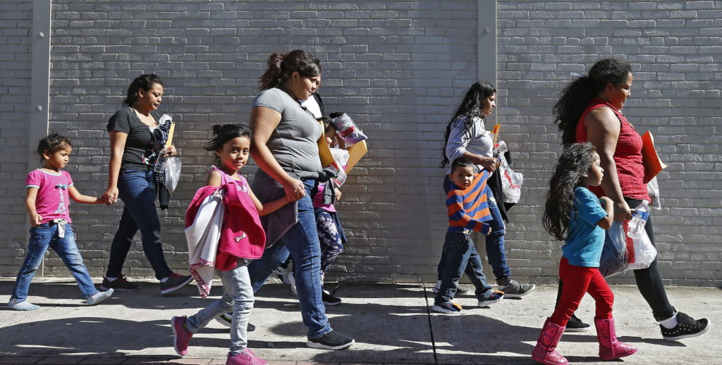
[[[303,185],[306,195],[297,202],[298,221],[281,237],[281,242],[274,245],[283,245],[283,248],[276,247],[264,252],[263,257],[248,267],[248,273],[251,276],[251,285],[254,288],[260,287],[273,270],[284,263],[285,258],[280,258],[284,250],[287,250],[293,260],[296,293],[303,324],[308,328],[308,338],[319,338],[331,332],[331,325],[321,300],[321,244],[318,242],[316,215],[313,214],[311,203],[314,181],[303,180]]]

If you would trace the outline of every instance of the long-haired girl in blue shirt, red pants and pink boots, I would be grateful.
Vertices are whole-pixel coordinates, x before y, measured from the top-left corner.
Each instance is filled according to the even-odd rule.
[[[594,324],[599,357],[612,360],[637,352],[633,346],[617,341],[612,317],[614,294],[599,273],[604,230],[612,226],[614,218],[612,201],[606,196],[598,199],[586,188],[601,184],[604,169],[599,162],[599,154],[591,144],[571,144],[559,157],[549,181],[541,219],[552,236],[565,242],[559,263],[564,286],[554,314],[544,322],[531,353],[532,359],[541,364],[569,364],[556,347],[584,293],[596,300]]]

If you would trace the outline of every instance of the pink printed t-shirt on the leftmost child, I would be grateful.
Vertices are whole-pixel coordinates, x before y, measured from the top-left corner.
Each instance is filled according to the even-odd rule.
[[[40,224],[48,223],[53,219],[65,219],[71,223],[68,189],[72,185],[73,179],[67,171],[54,174],[38,169],[27,174],[25,187],[38,188],[35,211],[42,216]]]

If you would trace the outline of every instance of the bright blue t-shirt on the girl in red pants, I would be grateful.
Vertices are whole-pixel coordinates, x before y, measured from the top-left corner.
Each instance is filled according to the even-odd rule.
[[[604,229],[596,222],[606,216],[606,211],[587,188],[574,189],[573,203],[576,211],[569,214],[569,234],[564,240],[562,258],[567,258],[571,265],[599,268]]]

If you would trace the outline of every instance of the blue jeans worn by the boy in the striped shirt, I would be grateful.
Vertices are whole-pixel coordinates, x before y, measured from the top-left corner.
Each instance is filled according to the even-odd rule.
[[[487,278],[482,272],[482,259],[468,233],[446,232],[443,252],[446,255],[446,265],[434,304],[451,302],[456,294],[458,279],[463,273],[469,276],[471,283],[477,288],[474,294],[479,301],[492,294],[492,287],[487,284]]]

